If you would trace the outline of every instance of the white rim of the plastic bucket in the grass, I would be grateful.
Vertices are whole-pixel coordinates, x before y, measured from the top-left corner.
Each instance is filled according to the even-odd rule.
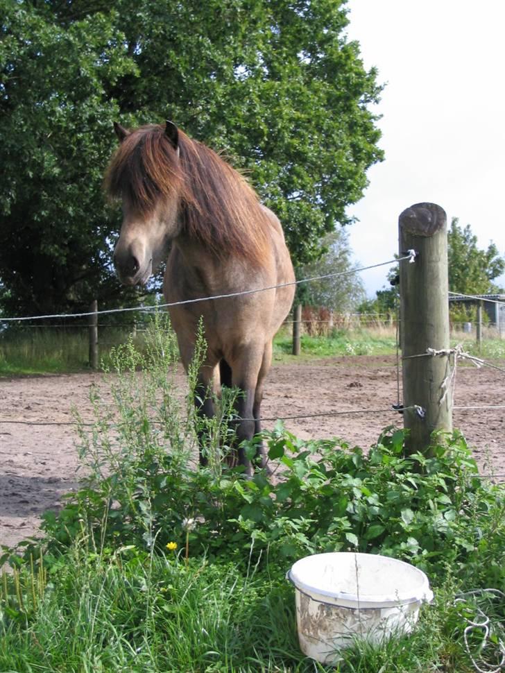
[[[293,577],[293,568],[295,568],[297,563],[300,561],[305,561],[305,559],[314,558],[314,556],[366,556],[367,558],[374,557],[380,559],[386,559],[387,561],[393,561],[393,563],[398,563],[404,566],[408,566],[410,570],[416,571],[418,577],[420,578],[420,583],[418,586],[411,588],[409,590],[403,590],[402,592],[397,591],[393,597],[390,594],[364,594],[360,593],[346,593],[345,591],[336,591],[336,590],[325,590],[318,586],[314,586],[311,583],[300,580],[298,577]],[[425,572],[416,568],[415,565],[407,563],[406,561],[401,561],[400,559],[395,559],[393,556],[384,556],[384,554],[366,554],[365,552],[323,552],[322,554],[310,554],[309,556],[304,556],[302,559],[298,559],[296,563],[293,563],[293,566],[286,573],[286,579],[289,579],[295,588],[309,596],[312,600],[318,603],[324,603],[328,605],[343,605],[346,607],[355,607],[355,608],[380,608],[380,607],[394,607],[399,605],[408,605],[416,602],[427,602],[431,603],[433,600],[434,594],[429,588],[429,580]],[[319,599],[321,597],[321,599]],[[329,600],[327,600],[329,599]],[[351,604],[351,605],[350,605]],[[352,605],[354,604],[354,605]]]

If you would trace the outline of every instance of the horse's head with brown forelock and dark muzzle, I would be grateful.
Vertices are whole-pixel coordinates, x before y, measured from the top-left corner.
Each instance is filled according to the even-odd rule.
[[[117,123],[117,149],[105,185],[121,198],[123,223],[114,248],[114,266],[127,285],[144,284],[166,259],[178,235],[178,129],[144,126],[132,132]]]

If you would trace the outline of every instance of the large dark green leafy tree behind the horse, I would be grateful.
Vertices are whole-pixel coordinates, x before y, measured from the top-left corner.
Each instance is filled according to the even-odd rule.
[[[377,74],[346,40],[345,0],[1,1],[0,275],[18,307],[112,291],[118,221],[100,182],[114,117],[168,117],[223,150],[280,217],[296,265],[350,223],[382,151]]]

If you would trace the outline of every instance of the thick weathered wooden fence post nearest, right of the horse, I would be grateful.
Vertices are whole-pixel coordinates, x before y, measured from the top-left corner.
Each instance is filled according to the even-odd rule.
[[[399,230],[400,256],[407,250],[418,253],[413,264],[400,264],[403,418],[410,431],[406,448],[426,454],[434,430],[452,430],[452,391],[446,386],[456,356],[425,355],[428,348],[450,346],[447,215],[434,203],[416,203],[400,214]]]

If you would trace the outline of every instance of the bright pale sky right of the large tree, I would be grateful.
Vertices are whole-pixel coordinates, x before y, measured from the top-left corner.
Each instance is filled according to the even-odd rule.
[[[421,201],[470,224],[479,248],[505,254],[505,3],[348,0],[349,40],[386,84],[379,105],[384,162],[368,170],[350,245],[360,266],[398,249],[398,216]],[[368,296],[389,266],[361,273]],[[495,282],[505,287],[505,276]]]

